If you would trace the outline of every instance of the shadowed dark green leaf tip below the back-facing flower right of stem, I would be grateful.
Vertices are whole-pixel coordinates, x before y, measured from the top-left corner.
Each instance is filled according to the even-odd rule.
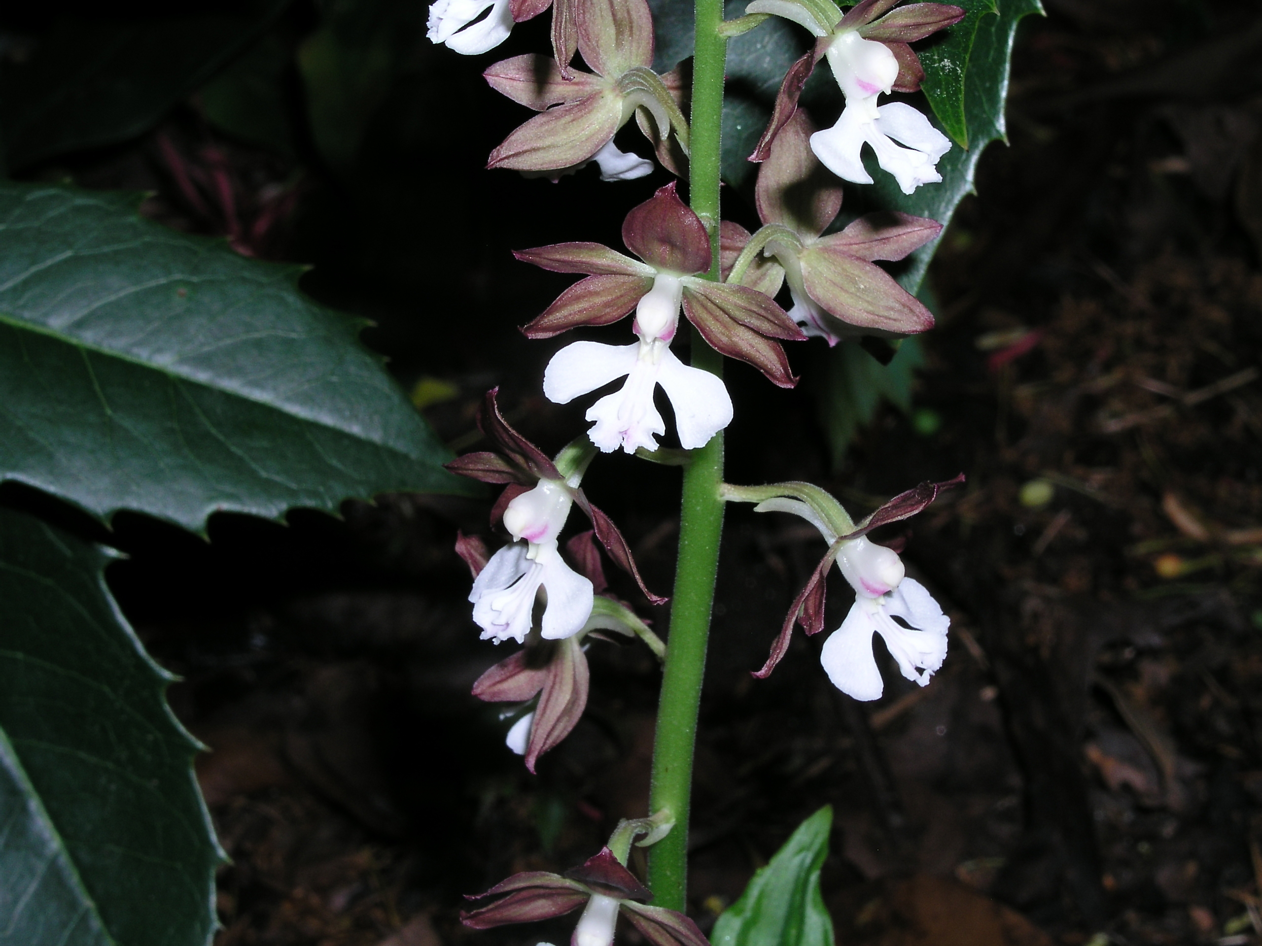
[[[859,428],[871,423],[882,399],[904,414],[911,410],[911,385],[924,361],[916,336],[904,339],[888,365],[878,362],[858,342],[842,342],[825,354],[819,423],[834,467],[840,465]]]

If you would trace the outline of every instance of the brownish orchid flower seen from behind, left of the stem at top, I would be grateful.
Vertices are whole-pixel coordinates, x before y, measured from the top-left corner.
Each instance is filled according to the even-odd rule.
[[[593,72],[570,68],[563,53],[554,59],[517,55],[488,68],[483,76],[492,88],[539,115],[509,135],[487,166],[555,180],[596,161],[604,180],[642,177],[651,161],[613,145],[613,135],[635,116],[659,160],[681,173],[688,154],[683,83],[678,71],[659,76],[649,68],[654,40],[647,0],[567,1],[574,43]],[[559,14],[560,8],[553,13],[554,26]],[[554,47],[557,42],[554,35]]]

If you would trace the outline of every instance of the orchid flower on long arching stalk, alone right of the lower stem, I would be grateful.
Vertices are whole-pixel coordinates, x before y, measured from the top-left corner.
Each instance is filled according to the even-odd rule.
[[[964,474],[945,483],[921,483],[893,497],[857,527],[833,497],[809,483],[777,483],[767,487],[726,487],[731,499],[757,502],[757,512],[791,512],[819,530],[828,551],[806,587],[794,599],[780,636],[764,667],[753,674],[764,679],[789,650],[794,624],[808,634],[824,627],[824,595],[828,573],[837,563],[854,589],[854,604],[842,626],[829,634],[820,652],[828,679],[856,700],[880,699],[885,690],[872,641],[881,634],[899,670],[921,686],[946,658],[946,628],[950,619],[924,585],[905,576],[901,559],[892,549],[873,544],[867,534],[877,526],[916,515],[938,493],[964,482]],[[895,618],[905,622],[897,623]]]

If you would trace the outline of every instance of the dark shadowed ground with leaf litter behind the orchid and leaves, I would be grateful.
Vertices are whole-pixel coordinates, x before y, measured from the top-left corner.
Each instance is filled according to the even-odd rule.
[[[172,20],[6,6],[10,173],[148,190],[144,212],[169,226],[310,264],[303,288],[375,320],[365,341],[429,392],[448,441],[475,445],[477,402],[500,385],[510,419],[559,448],[583,406],[548,404],[539,383],[568,339],[515,327],[567,280],[509,250],[618,247],[626,209],[665,173],[551,184],[482,169],[525,115],[480,72],[544,48],[546,18],[464,59],[424,40],[420,3],[260,9],[182,11],[237,16],[249,37],[188,88],[163,87],[156,124],[40,155],[10,131],[47,81],[42,57],[111,29],[156,49]],[[880,411],[834,469],[814,406],[823,343],[790,352],[796,391],[728,371],[734,482],[813,479],[856,512],[923,479],[963,470],[968,486],[882,537],[907,540],[953,634],[929,687],[890,671],[876,704],[830,687],[819,641],[750,677],[823,547],[796,521],[729,511],[693,826],[704,930],[830,802],[824,893],[842,943],[1262,935],[1247,916],[1262,893],[1262,535],[1247,534],[1262,525],[1262,396],[1242,373],[1262,354],[1262,19],[1196,0],[1047,11],[1018,37],[1011,144],[982,159],[979,196],[930,270],[939,324],[912,414]],[[741,196],[726,201],[752,228]],[[1017,354],[1022,332],[1040,334]],[[1049,502],[1029,505],[1034,479]],[[669,589],[678,470],[617,455],[584,486],[650,587]],[[507,652],[477,641],[451,551],[458,527],[490,537],[488,501],[221,516],[203,541],[126,513],[105,532],[10,487],[0,498],[129,555],[111,587],[183,676],[172,704],[212,748],[198,773],[233,859],[221,946],[569,936],[569,921],[471,933],[461,894],[569,867],[644,814],[659,672],[640,648],[593,643],[583,721],[538,777],[524,771],[496,709],[468,695]],[[615,581],[664,632],[668,609]],[[848,607],[834,588],[830,626]]]

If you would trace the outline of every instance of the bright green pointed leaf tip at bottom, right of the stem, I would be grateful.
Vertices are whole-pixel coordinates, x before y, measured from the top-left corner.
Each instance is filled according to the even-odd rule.
[[[714,946],[833,946],[833,921],[819,892],[833,809],[808,817],[714,923]]]

